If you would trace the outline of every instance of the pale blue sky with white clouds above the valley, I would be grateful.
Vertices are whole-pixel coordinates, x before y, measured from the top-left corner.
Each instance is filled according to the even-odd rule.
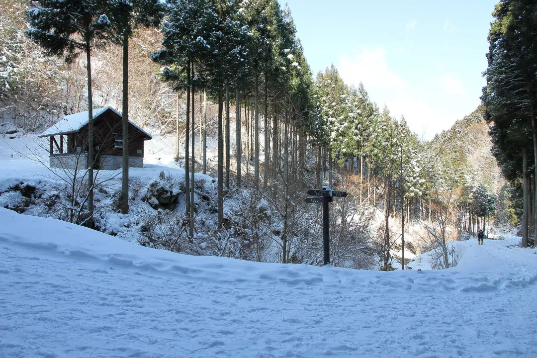
[[[479,104],[498,0],[287,0],[314,73],[331,63],[430,139]]]

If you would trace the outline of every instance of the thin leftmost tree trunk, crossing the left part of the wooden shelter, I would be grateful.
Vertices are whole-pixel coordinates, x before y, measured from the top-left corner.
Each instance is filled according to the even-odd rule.
[[[86,71],[88,72],[88,227],[93,227],[93,95],[91,88],[91,48],[86,46]]]

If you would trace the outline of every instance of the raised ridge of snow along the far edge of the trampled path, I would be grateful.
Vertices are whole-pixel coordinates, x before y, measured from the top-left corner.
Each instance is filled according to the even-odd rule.
[[[37,234],[39,233],[39,234]],[[359,286],[375,293],[407,291],[480,291],[524,287],[537,280],[535,252],[514,250],[517,238],[479,246],[458,242],[464,249],[459,265],[447,270],[369,272],[338,267],[265,264],[220,257],[197,257],[154,250],[67,222],[19,215],[0,208],[0,240],[39,247],[49,255],[91,258],[96,264],[135,270],[188,274],[190,279],[215,282],[279,282],[328,287]],[[460,250],[460,249],[459,249]],[[516,251],[516,258],[513,252]],[[483,255],[486,252],[486,255]],[[506,267],[510,268],[506,271]],[[524,269],[523,269],[524,268]],[[222,273],[225,272],[225,275]]]

